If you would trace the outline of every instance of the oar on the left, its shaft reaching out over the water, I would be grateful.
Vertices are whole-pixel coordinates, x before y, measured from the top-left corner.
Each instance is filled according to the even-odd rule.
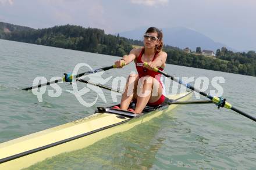
[[[125,63],[122,63],[122,66],[125,66]],[[70,81],[72,81],[73,78],[79,78],[79,77],[81,77],[85,74],[98,73],[99,71],[106,71],[106,70],[109,70],[109,69],[112,69],[112,68],[116,68],[116,65],[114,64],[113,66],[102,67],[102,68],[95,69],[93,71],[87,71],[87,72],[84,72],[84,73],[74,75],[74,77],[73,77],[73,75],[67,76],[67,74],[65,74],[65,77],[63,77],[61,79],[56,79],[55,81],[49,81],[49,82],[44,83],[44,84],[39,84],[39,85],[31,86],[31,87],[28,87],[28,88],[23,88],[22,90],[29,91],[31,89],[40,88],[41,86],[47,86],[47,85],[55,84],[55,83],[58,83],[58,82],[61,82],[61,81],[70,82]]]

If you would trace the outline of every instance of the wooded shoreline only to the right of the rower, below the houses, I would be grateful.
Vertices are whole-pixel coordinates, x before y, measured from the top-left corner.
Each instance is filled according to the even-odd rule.
[[[216,57],[194,55],[193,53],[182,53],[175,50],[167,50],[167,63],[179,66],[203,68],[207,70],[223,71],[227,73],[256,75],[256,54],[254,51],[221,52]]]

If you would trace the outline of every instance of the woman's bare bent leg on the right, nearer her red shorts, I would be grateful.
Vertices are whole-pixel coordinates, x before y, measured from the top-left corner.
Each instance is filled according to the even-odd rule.
[[[162,86],[153,77],[143,77],[138,81],[135,113],[140,114],[148,102],[154,103],[162,95]]]

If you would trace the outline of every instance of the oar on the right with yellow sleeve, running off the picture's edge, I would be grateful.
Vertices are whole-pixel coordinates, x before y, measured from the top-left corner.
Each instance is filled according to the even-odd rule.
[[[143,64],[144,64],[144,66],[148,66],[148,63],[147,63],[147,62],[145,62],[145,63],[143,63]],[[169,74],[167,74],[167,73],[165,73],[165,72],[159,70],[158,68],[154,68],[154,71],[155,71],[155,72],[158,72],[158,73],[161,73],[161,74],[164,75],[165,77],[168,77],[168,78],[172,79],[173,81],[178,82],[179,84],[182,84],[182,85],[186,86],[187,88],[191,89],[192,91],[195,91],[195,92],[200,93],[200,95],[202,95],[202,96],[207,97],[207,98],[210,99],[213,103],[215,103],[215,104],[218,106],[218,108],[219,108],[219,107],[225,107],[225,108],[231,109],[231,110],[233,110],[233,111],[236,111],[236,113],[239,113],[239,114],[241,114],[241,115],[243,115],[243,116],[245,116],[245,117],[247,117],[247,118],[250,118],[250,120],[253,120],[253,121],[256,122],[256,118],[255,118],[255,117],[253,117],[253,116],[251,116],[251,115],[249,115],[249,114],[247,114],[247,113],[244,113],[243,111],[239,110],[238,108],[232,106],[232,104],[226,102],[226,99],[222,99],[222,97],[216,97],[216,96],[208,95],[207,93],[202,92],[202,91],[200,91],[200,90],[198,90],[198,89],[195,89],[195,88],[194,88],[193,86],[191,86],[190,84],[185,84],[185,83],[182,82],[181,80],[179,80],[179,79],[173,77],[172,75],[169,75]]]

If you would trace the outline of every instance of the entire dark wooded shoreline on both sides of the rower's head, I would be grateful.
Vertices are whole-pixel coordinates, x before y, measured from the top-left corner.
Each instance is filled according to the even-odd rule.
[[[142,41],[105,34],[104,30],[97,28],[84,28],[69,24],[35,30],[0,22],[0,38],[113,56],[126,55],[133,48],[132,45],[143,46]],[[207,57],[200,54],[186,53],[182,49],[169,45],[165,45],[163,50],[168,53],[166,63],[169,64],[227,73],[256,75],[255,51],[235,53],[222,48],[216,50],[216,57]]]

